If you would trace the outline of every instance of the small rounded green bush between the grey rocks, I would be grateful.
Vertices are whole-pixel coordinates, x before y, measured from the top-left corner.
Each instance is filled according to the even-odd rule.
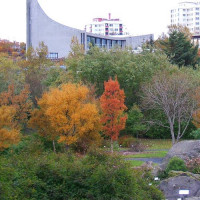
[[[182,159],[178,157],[173,157],[170,159],[165,171],[168,174],[172,170],[185,172],[187,171],[187,167]]]

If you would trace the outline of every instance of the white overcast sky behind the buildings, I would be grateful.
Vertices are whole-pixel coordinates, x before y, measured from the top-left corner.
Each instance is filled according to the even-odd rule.
[[[32,0],[34,1],[34,0]],[[180,0],[38,0],[54,20],[79,29],[95,17],[120,18],[132,35],[157,37],[170,24],[170,9]],[[26,0],[0,0],[0,38],[26,41]]]

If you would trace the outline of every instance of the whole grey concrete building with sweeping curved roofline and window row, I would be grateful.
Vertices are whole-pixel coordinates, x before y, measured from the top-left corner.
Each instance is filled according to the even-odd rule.
[[[152,34],[142,36],[111,37],[88,33],[60,24],[49,18],[40,7],[38,0],[27,0],[27,49],[37,48],[40,42],[48,47],[49,58],[60,59],[67,57],[71,48],[72,37],[77,37],[85,51],[90,44],[100,48],[113,48],[118,45],[121,48],[131,47],[136,49],[143,43],[154,38]]]

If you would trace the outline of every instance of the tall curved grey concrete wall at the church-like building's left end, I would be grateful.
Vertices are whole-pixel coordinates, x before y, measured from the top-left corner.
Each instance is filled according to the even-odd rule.
[[[40,42],[48,46],[49,52],[66,57],[70,51],[71,39],[81,40],[84,31],[74,29],[49,18],[37,0],[27,0],[27,45],[36,48]]]

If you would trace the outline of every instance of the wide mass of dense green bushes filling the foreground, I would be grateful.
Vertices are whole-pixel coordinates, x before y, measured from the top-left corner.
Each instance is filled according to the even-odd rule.
[[[117,155],[93,150],[73,159],[65,153],[0,157],[1,200],[157,200],[161,192]]]

